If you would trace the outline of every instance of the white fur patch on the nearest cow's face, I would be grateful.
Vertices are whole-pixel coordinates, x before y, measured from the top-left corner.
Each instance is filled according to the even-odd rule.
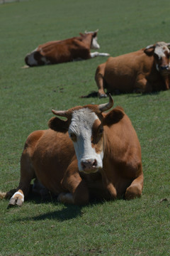
[[[72,122],[69,126],[69,136],[75,134],[77,141],[74,142],[79,171],[84,171],[81,166],[82,160],[95,160],[96,171],[103,167],[103,151],[97,154],[91,145],[92,127],[94,121],[98,119],[89,108],[76,110],[72,114]],[[71,136],[70,136],[71,137]]]

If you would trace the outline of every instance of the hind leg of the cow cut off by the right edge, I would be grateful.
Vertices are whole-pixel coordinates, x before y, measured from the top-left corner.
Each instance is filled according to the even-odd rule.
[[[96,84],[98,86],[98,97],[107,97],[106,93],[104,92],[104,87],[103,87],[103,77],[104,77],[104,72],[105,72],[105,65],[106,65],[106,63],[98,65],[98,68],[96,69],[95,80],[96,80]]]

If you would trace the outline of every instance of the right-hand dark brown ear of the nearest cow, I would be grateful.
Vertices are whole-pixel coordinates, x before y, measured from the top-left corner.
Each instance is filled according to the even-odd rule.
[[[111,126],[112,124],[118,123],[121,119],[123,119],[124,114],[125,113],[123,112],[122,107],[116,107],[106,114],[103,119],[103,125]]]

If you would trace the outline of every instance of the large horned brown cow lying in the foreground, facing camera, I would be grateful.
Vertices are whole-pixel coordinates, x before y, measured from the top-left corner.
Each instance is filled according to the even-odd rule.
[[[21,156],[21,180],[9,205],[21,206],[34,190],[43,188],[63,203],[85,204],[93,195],[106,200],[140,197],[143,173],[140,142],[121,107],[106,104],[73,107],[54,114],[50,129],[31,133]],[[40,185],[42,184],[42,185]],[[5,195],[4,195],[5,196]]]

